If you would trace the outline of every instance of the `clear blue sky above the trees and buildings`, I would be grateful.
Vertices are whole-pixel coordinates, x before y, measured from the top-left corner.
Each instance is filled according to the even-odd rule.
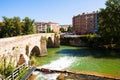
[[[36,22],[57,22],[72,24],[72,17],[105,8],[107,0],[0,0],[0,21],[2,16],[21,19],[29,17]]]

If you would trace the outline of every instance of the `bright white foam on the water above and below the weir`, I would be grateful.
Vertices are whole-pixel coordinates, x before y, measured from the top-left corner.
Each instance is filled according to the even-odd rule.
[[[46,68],[46,69],[52,69],[52,70],[63,70],[67,67],[69,67],[74,61],[76,57],[61,57],[58,60],[52,61],[50,64],[43,65],[39,68]],[[34,72],[34,74],[37,74],[35,80],[56,80],[58,77],[58,73],[53,74],[44,74],[41,72]]]

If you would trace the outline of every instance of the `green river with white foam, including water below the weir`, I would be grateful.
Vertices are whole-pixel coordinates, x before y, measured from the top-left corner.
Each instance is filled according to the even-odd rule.
[[[120,76],[120,52],[93,50],[86,47],[49,48],[48,56],[37,57],[40,67],[55,70],[77,70],[88,73]],[[59,74],[38,74],[36,80],[55,80]]]

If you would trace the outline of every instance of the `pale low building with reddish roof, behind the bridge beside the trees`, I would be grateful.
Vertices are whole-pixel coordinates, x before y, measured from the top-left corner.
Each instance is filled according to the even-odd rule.
[[[46,33],[47,29],[53,30],[53,32],[59,33],[58,23],[55,22],[35,22],[36,32]]]

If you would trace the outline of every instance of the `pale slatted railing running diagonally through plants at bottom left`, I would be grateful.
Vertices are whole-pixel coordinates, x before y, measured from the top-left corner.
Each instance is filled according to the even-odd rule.
[[[22,65],[20,65],[19,67],[17,67],[11,75],[9,75],[8,77],[1,77],[0,80],[15,80],[15,77],[17,77],[21,70],[26,67],[27,64],[26,63],[23,63]]]

